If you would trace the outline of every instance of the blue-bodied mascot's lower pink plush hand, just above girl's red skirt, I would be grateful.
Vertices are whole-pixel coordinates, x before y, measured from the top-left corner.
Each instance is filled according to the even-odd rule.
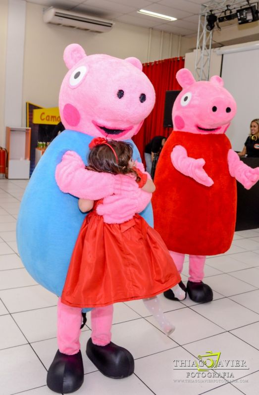
[[[134,178],[122,174],[115,178],[115,195],[104,198],[103,204],[97,207],[98,214],[103,215],[104,222],[109,224],[128,221],[137,212],[143,211],[152,197],[152,194],[138,187]]]

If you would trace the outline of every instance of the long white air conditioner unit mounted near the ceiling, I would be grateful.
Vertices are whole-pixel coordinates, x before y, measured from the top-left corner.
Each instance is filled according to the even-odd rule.
[[[106,19],[54,7],[44,11],[43,20],[54,25],[69,26],[98,33],[108,32],[114,25],[114,22]]]

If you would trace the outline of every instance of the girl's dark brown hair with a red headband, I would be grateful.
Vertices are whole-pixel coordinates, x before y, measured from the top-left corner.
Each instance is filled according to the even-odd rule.
[[[116,140],[108,140],[107,143],[116,152],[118,163],[113,150],[106,144],[100,144],[90,150],[88,155],[88,166],[86,166],[86,169],[97,171],[99,173],[131,173],[136,176],[136,181],[139,182],[140,177],[136,171],[129,166],[129,161],[133,154],[132,144]]]

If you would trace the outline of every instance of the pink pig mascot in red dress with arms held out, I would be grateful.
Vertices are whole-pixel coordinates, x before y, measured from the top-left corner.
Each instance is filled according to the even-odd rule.
[[[240,161],[225,135],[236,103],[223,80],[213,76],[196,82],[187,69],[179,70],[176,78],[183,90],[174,102],[174,130],[155,172],[154,224],[180,273],[189,254],[190,298],[208,302],[213,293],[203,283],[206,255],[229,249],[236,221],[236,180],[251,188],[259,180],[259,168]],[[186,290],[183,283],[180,286]],[[164,296],[175,299],[172,290]]]

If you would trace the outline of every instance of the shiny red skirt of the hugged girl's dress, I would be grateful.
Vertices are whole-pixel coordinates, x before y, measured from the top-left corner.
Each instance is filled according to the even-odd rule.
[[[159,234],[139,215],[106,224],[96,212],[85,218],[71,257],[61,301],[97,307],[147,298],[181,281]]]

